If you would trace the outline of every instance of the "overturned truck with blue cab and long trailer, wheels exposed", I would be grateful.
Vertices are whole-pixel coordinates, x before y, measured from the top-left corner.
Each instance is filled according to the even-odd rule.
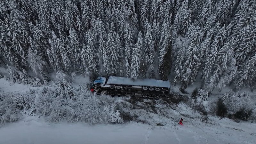
[[[135,96],[158,100],[169,97],[170,82],[155,79],[132,80],[126,77],[98,77],[91,86],[91,91],[98,94],[106,91],[110,96]]]

